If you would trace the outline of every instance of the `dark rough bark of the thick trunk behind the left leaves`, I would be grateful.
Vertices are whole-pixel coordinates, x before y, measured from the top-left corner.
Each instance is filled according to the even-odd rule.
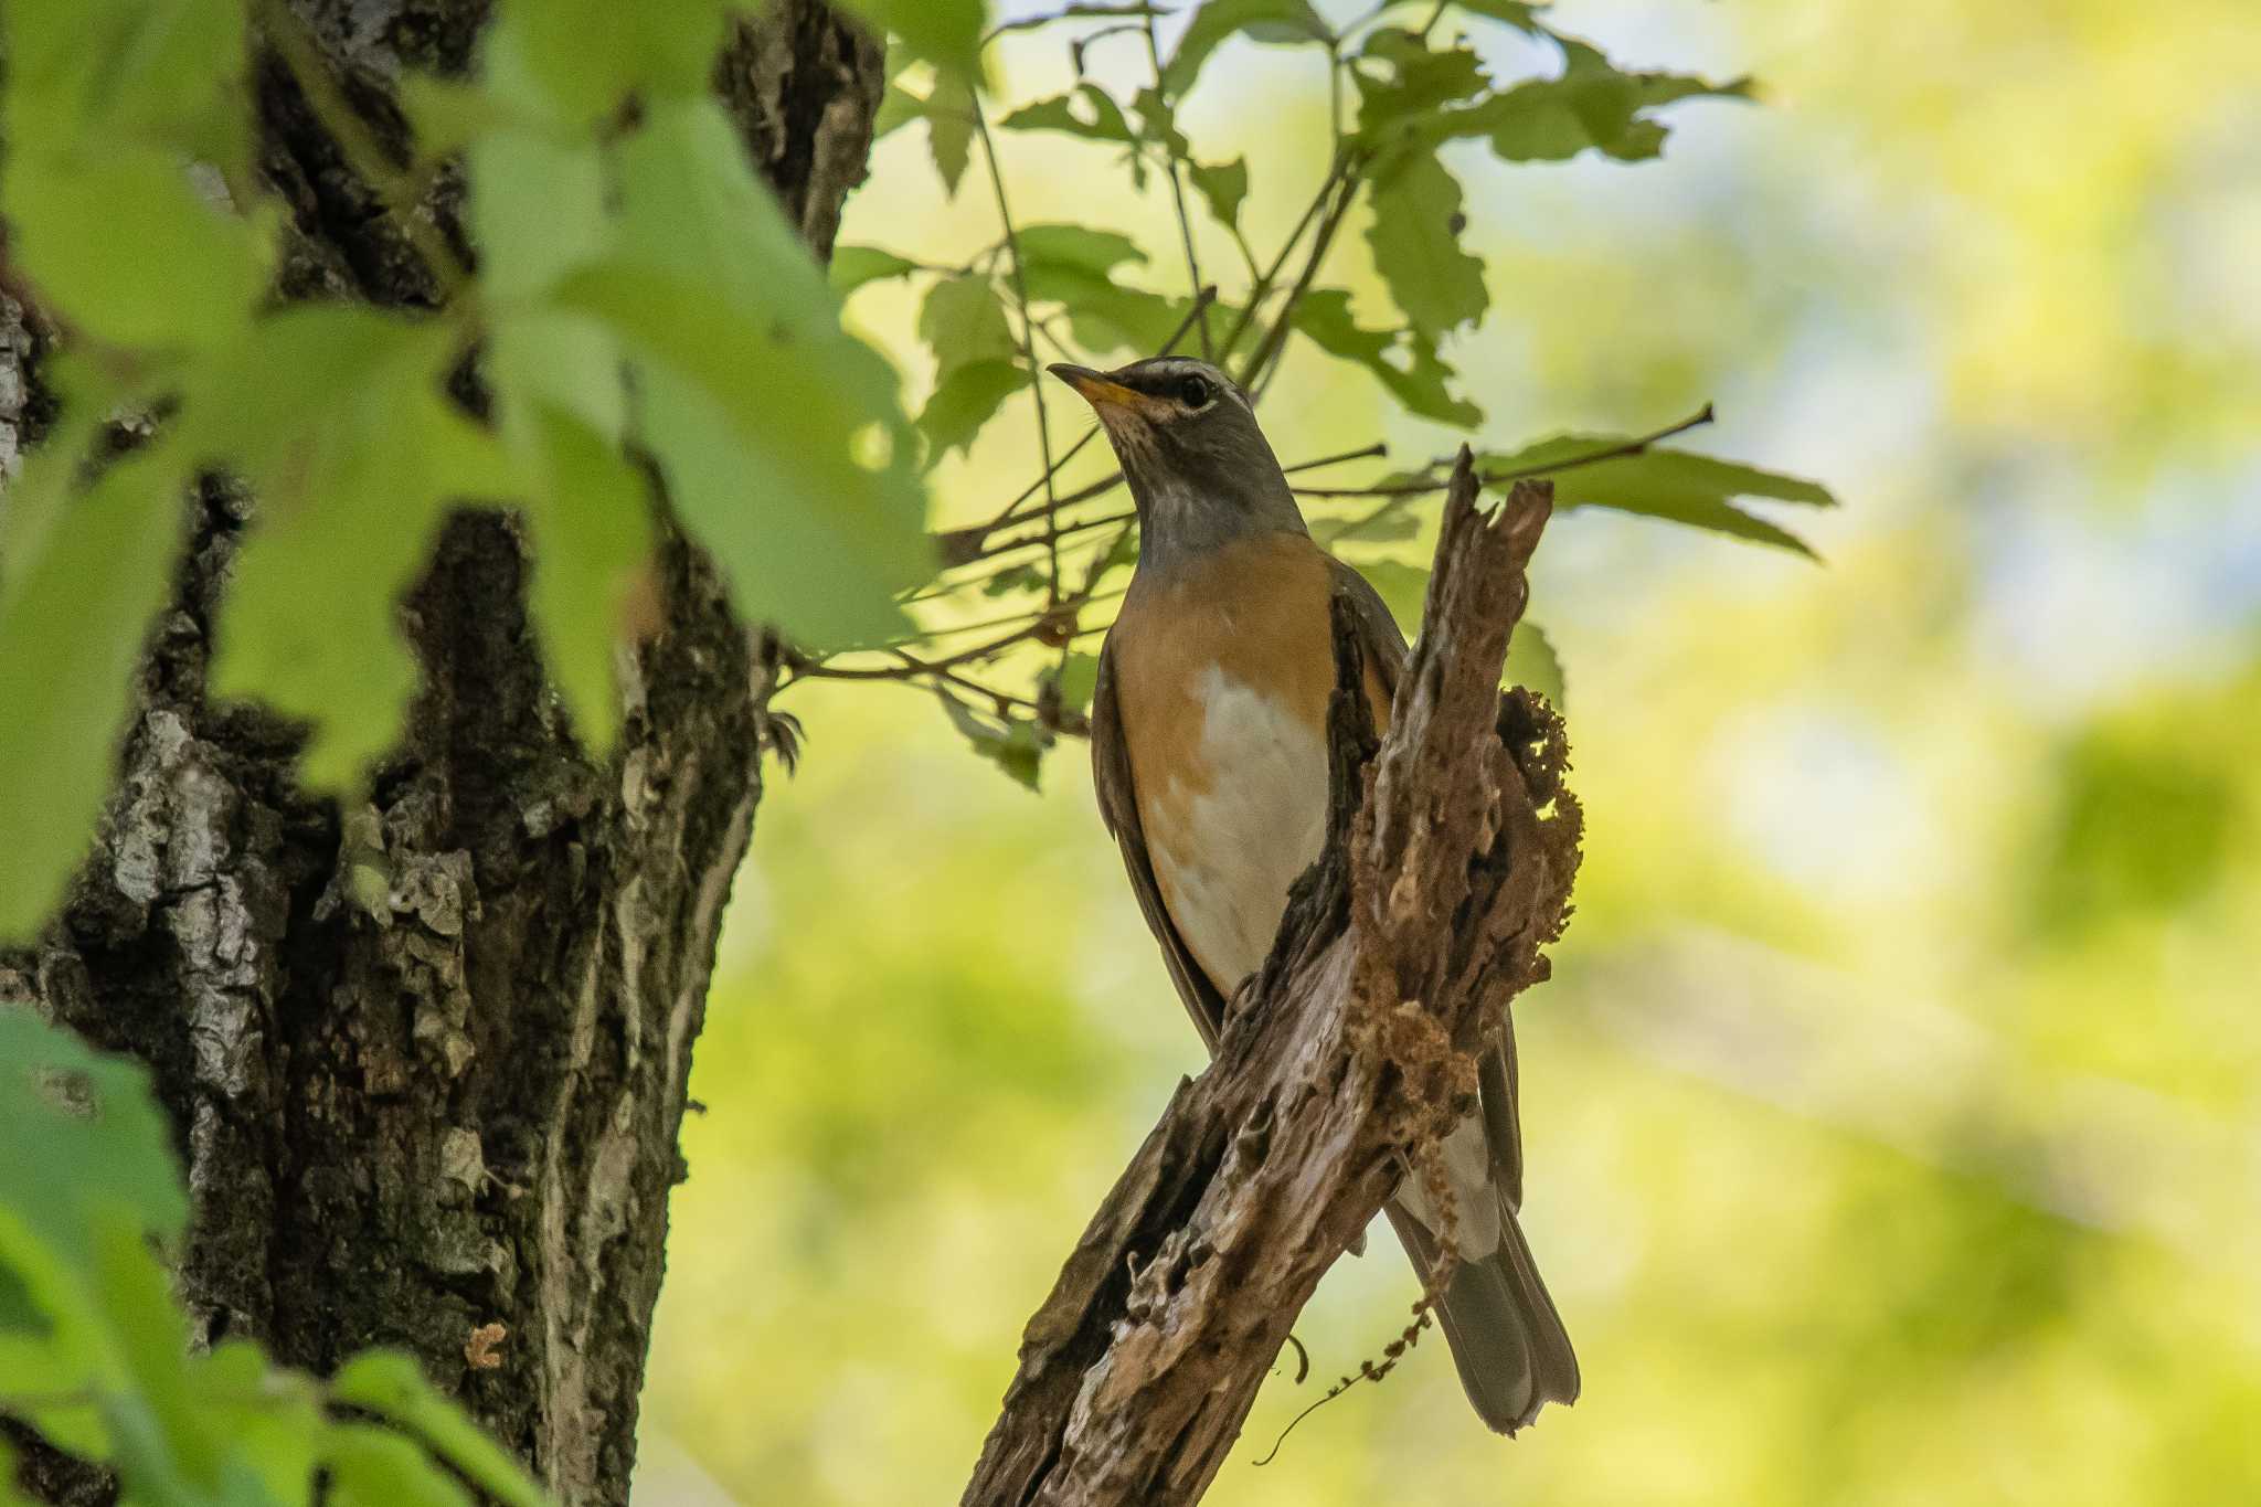
[[[402,66],[468,66],[486,0],[292,0],[389,133]],[[816,0],[748,23],[717,84],[818,253],[864,174],[882,54]],[[430,303],[434,282],[319,129],[255,68],[262,167],[292,208],[289,296]],[[461,185],[427,210],[448,235]],[[5,445],[36,438],[41,321],[0,310]],[[464,513],[402,603],[425,685],[369,804],[292,777],[298,732],[206,696],[246,502],[210,481],[156,626],[93,856],[0,999],[145,1057],[192,1191],[179,1290],[201,1340],[328,1371],[369,1344],[427,1371],[565,1502],[626,1502],[676,1130],[714,933],[762,795],[769,678],[710,565],[660,563],[665,624],[626,732],[561,725],[513,522]],[[18,1432],[20,1437],[20,1432]],[[32,1448],[25,1484],[111,1482]]]

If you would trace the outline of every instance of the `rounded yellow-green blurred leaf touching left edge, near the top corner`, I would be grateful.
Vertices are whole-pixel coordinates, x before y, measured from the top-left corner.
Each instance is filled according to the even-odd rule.
[[[11,151],[0,210],[43,300],[113,346],[217,346],[267,287],[253,221],[208,203],[167,149]]]

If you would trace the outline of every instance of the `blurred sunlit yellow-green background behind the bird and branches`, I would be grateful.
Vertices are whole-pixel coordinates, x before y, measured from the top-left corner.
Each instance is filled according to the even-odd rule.
[[[1485,438],[1709,398],[1700,447],[1845,506],[1784,517],[1822,567],[1608,513],[1542,549],[1589,836],[1519,1010],[1526,1225],[1583,1401],[1495,1439],[1431,1342],[1255,1469],[1316,1394],[1280,1376],[1212,1500],[2261,1500],[2261,11],[1556,20],[1766,104],[1680,106],[1639,167],[1452,158]],[[1054,93],[1063,54],[1011,43],[1002,84]],[[1192,111],[1273,237],[1320,77],[1235,45]],[[1133,228],[1176,287],[1101,154],[1002,149],[1022,219]],[[963,255],[981,188],[945,203],[902,131],[843,239]],[[1361,255],[1334,271],[1377,298]],[[852,314],[916,398],[913,310]],[[1314,359],[1266,425],[1289,459],[1445,443]],[[943,517],[1033,456],[1013,407]],[[1201,1053],[1078,748],[1036,798],[911,691],[785,705],[809,752],[699,1044],[640,1500],[956,1500],[1020,1324]],[[1388,1236],[1345,1261],[1298,1326],[1320,1378],[1411,1297]]]

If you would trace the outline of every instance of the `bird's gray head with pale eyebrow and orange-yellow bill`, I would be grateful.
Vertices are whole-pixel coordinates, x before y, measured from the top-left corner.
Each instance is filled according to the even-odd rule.
[[[1130,481],[1140,565],[1169,569],[1255,533],[1305,533],[1248,393],[1192,357],[1054,366],[1099,413]]]

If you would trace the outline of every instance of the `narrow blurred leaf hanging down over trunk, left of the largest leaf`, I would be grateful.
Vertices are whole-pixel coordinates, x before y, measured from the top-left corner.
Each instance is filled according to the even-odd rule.
[[[506,434],[534,479],[529,606],[543,662],[581,741],[604,757],[620,737],[615,657],[635,637],[633,594],[656,545],[644,472],[556,409],[513,418]]]

